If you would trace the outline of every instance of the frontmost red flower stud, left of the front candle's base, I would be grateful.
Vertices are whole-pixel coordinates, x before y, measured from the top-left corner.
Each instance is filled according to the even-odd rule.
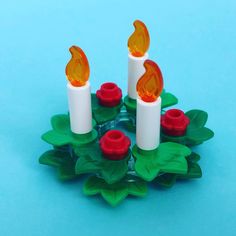
[[[102,153],[110,160],[124,159],[130,144],[130,139],[120,130],[110,130],[100,139]]]

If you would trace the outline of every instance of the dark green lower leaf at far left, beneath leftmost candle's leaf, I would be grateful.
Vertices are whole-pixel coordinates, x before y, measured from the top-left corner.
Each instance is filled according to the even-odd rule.
[[[45,152],[40,158],[39,163],[57,168],[58,178],[61,180],[75,179],[75,162],[68,152],[50,150]]]

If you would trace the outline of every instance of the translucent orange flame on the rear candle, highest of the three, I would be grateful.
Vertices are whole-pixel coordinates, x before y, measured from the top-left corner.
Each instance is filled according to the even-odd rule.
[[[150,45],[148,29],[140,20],[136,20],[133,25],[135,31],[129,37],[128,48],[133,56],[142,57],[147,52]]]

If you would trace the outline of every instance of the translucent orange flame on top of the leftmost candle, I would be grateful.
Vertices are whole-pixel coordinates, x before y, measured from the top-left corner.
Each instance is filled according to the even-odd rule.
[[[66,66],[66,77],[73,86],[84,86],[90,73],[88,59],[77,46],[72,46],[69,50],[72,57]]]

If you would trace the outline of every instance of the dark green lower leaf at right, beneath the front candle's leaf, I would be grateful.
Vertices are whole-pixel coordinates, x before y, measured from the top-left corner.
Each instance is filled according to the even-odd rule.
[[[188,162],[188,171],[186,174],[180,175],[180,174],[163,173],[154,180],[154,183],[157,183],[162,187],[170,188],[176,183],[176,180],[178,179],[201,178],[202,171],[197,163],[200,160],[200,156],[192,152],[190,156],[186,157],[186,159]]]

